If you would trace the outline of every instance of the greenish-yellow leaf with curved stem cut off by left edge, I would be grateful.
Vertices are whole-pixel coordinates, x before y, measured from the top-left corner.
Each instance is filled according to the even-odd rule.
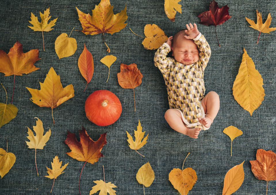
[[[1,83],[2,85],[2,83]],[[6,103],[0,103],[0,128],[7,124],[11,119],[14,119],[17,115],[17,107],[13,104],[7,104],[8,96],[5,87],[2,85],[6,92]]]

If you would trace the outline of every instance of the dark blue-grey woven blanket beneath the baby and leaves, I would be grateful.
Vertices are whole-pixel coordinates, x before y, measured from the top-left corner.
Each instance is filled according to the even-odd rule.
[[[13,103],[18,107],[15,119],[0,129],[0,148],[16,155],[16,162],[2,179],[0,179],[0,194],[50,194],[53,180],[47,175],[46,166],[51,168],[51,161],[58,155],[62,163],[69,165],[64,173],[57,177],[51,194],[78,194],[78,179],[84,162],[69,157],[69,147],[64,143],[67,130],[76,133],[81,126],[93,140],[100,134],[107,132],[107,145],[102,149],[104,157],[95,164],[87,163],[81,175],[81,192],[89,194],[94,186],[93,180],[105,179],[114,183],[118,188],[116,194],[143,194],[143,186],[136,180],[138,169],[148,161],[155,173],[152,185],[145,188],[145,194],[178,194],[168,180],[168,174],[173,168],[182,167],[188,152],[185,167],[196,170],[198,181],[189,194],[218,195],[222,193],[226,172],[233,166],[245,160],[244,182],[234,194],[265,194],[266,182],[257,180],[252,171],[250,160],[256,159],[258,148],[276,152],[276,32],[261,33],[248,27],[245,17],[256,21],[256,9],[262,13],[263,21],[271,13],[271,27],[276,27],[276,4],[273,0],[219,0],[221,7],[228,3],[229,14],[232,16],[224,24],[217,26],[218,47],[214,26],[199,24],[199,13],[209,9],[209,0],[181,1],[182,14],[177,13],[175,22],[171,22],[164,12],[164,1],[151,0],[111,0],[114,13],[118,13],[127,4],[128,20],[126,28],[113,35],[105,34],[105,40],[111,52],[106,52],[102,35],[87,35],[80,31],[73,31],[71,37],[76,38],[78,49],[70,57],[58,59],[54,42],[62,32],[70,34],[74,30],[81,30],[81,23],[75,7],[84,13],[92,14],[95,4],[100,0],[90,1],[1,1],[0,2],[0,49],[9,52],[16,40],[23,45],[23,52],[39,49],[39,61],[35,63],[40,69],[23,76],[16,76]],[[45,32],[45,52],[43,51],[42,34],[30,29],[30,12],[39,16],[50,7],[51,19],[57,18],[53,30]],[[40,18],[39,18],[40,21]],[[221,108],[211,128],[200,132],[198,139],[179,134],[172,130],[164,119],[164,113],[169,108],[166,88],[162,74],[154,66],[155,51],[146,50],[141,44],[143,38],[133,34],[143,35],[145,24],[157,24],[167,36],[174,35],[185,27],[186,23],[196,22],[198,29],[210,44],[212,55],[206,67],[204,80],[206,94],[215,91],[220,96]],[[86,81],[78,70],[78,57],[83,51],[83,43],[94,58],[94,75],[83,92]],[[243,54],[243,47],[253,59],[256,69],[260,72],[264,82],[264,101],[250,116],[234,99],[232,95],[233,82],[238,73]],[[117,60],[110,67],[100,62],[105,55],[115,55]],[[136,111],[134,111],[132,89],[123,89],[117,81],[120,64],[136,63],[143,74],[142,84],[135,88]],[[73,84],[75,96],[62,105],[53,109],[55,124],[52,123],[51,109],[39,107],[30,101],[31,94],[25,87],[40,89],[39,82],[44,82],[50,67],[53,67],[61,77],[63,86]],[[13,76],[5,77],[0,74],[11,102]],[[122,103],[122,114],[113,125],[99,127],[88,121],[85,116],[85,100],[95,90],[106,89],[114,92]],[[0,89],[0,101],[5,103],[5,91]],[[35,125],[34,117],[43,122],[46,130],[52,131],[51,137],[43,150],[37,150],[37,176],[34,163],[34,149],[27,147],[27,127]],[[138,119],[143,131],[149,133],[148,142],[138,151],[145,155],[141,157],[131,150],[127,144],[126,130],[133,135]],[[243,135],[233,140],[233,156],[230,157],[230,138],[223,133],[223,129],[233,125],[243,131]],[[275,182],[268,182],[268,194],[276,194]]]

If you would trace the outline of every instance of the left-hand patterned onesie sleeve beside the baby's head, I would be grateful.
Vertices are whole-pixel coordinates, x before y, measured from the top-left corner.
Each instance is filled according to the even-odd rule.
[[[159,68],[162,74],[166,74],[168,69],[172,66],[172,58],[167,57],[169,52],[170,46],[167,43],[163,43],[154,55],[154,65]]]

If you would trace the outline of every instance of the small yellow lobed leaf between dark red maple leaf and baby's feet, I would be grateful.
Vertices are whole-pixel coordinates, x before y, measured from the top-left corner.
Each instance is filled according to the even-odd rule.
[[[147,134],[147,136],[145,136],[145,138],[144,138],[144,135],[145,135],[145,132],[142,132],[142,127],[141,127],[141,123],[139,120],[138,126],[137,126],[137,131],[134,130],[135,142],[133,141],[132,136],[127,132],[127,137],[128,137],[127,141],[129,142],[129,147],[137,152],[137,150],[139,148],[141,148],[143,145],[145,145],[147,143],[147,136],[149,134]],[[140,154],[140,153],[138,152],[138,154]]]

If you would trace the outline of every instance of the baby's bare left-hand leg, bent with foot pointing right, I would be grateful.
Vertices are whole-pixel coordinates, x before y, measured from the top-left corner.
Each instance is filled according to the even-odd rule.
[[[187,128],[183,121],[180,112],[177,109],[168,109],[165,113],[165,119],[170,127],[179,133],[183,133],[191,138],[198,138],[201,128]]]

